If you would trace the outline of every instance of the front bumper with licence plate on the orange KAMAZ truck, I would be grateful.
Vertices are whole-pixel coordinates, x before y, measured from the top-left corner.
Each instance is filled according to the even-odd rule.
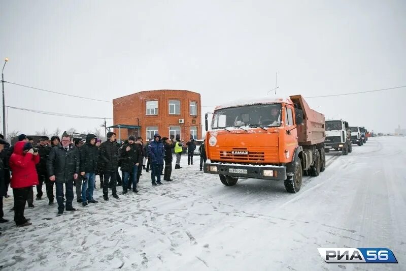
[[[205,163],[205,173],[226,175],[232,177],[285,180],[286,167],[279,166],[250,166],[250,165],[228,165],[219,163]]]

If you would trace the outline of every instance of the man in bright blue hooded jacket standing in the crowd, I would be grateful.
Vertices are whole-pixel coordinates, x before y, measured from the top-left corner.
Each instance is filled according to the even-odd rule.
[[[148,146],[148,156],[151,160],[151,181],[152,185],[156,186],[162,185],[161,183],[161,171],[163,167],[163,156],[164,149],[163,143],[161,141],[161,136],[159,134],[154,135],[154,140],[149,143]],[[155,183],[156,176],[156,183]]]

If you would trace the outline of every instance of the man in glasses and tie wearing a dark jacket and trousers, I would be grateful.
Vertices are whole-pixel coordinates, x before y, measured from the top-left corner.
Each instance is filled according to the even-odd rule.
[[[56,201],[58,202],[58,215],[65,209],[63,204],[63,184],[66,189],[66,210],[75,211],[72,206],[74,198],[73,181],[78,178],[80,168],[79,150],[71,144],[71,136],[62,137],[61,144],[52,148],[47,160],[49,180],[55,182]]]

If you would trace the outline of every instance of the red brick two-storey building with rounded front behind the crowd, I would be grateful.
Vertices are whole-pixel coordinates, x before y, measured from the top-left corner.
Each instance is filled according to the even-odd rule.
[[[144,140],[155,133],[162,137],[180,135],[201,138],[200,94],[162,89],[143,91],[113,100],[113,122],[117,139],[141,135]],[[120,131],[119,131],[120,130]]]

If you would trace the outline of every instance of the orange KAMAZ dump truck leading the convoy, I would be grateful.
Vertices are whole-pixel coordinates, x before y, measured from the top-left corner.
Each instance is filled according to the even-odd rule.
[[[217,106],[210,130],[206,114],[204,171],[225,186],[239,178],[283,180],[296,193],[303,171],[318,176],[325,169],[324,123],[300,95]]]

